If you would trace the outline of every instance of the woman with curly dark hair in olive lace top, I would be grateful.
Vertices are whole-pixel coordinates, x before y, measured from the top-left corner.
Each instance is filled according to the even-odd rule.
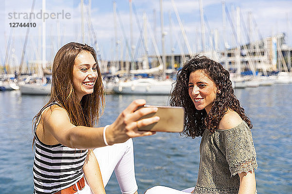
[[[146,194],[255,194],[253,126],[234,94],[229,72],[195,56],[178,72],[170,105],[185,108],[183,134],[202,136],[197,184],[184,191],[156,186]]]

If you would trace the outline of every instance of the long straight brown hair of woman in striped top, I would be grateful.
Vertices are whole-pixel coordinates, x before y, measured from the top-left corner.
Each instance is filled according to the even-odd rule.
[[[83,96],[79,101],[73,86],[73,65],[75,58],[82,51],[88,51],[92,54],[97,63],[98,76],[93,86],[93,93]],[[95,50],[86,44],[75,42],[68,43],[59,49],[53,63],[51,97],[44,107],[57,102],[67,111],[73,125],[93,127],[98,123],[100,115],[104,112],[105,97],[105,89]],[[35,124],[40,115],[41,111],[33,118],[33,131],[34,127],[37,127]],[[34,142],[35,135],[33,145]]]

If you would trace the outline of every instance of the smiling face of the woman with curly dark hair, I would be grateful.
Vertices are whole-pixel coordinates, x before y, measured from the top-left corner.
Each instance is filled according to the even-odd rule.
[[[197,110],[210,112],[218,89],[214,81],[203,70],[193,71],[189,76],[188,93]]]

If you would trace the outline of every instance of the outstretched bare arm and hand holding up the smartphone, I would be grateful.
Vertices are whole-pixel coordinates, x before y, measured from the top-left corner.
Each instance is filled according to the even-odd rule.
[[[112,145],[126,142],[131,137],[152,135],[155,132],[139,131],[136,121],[149,113],[157,112],[157,108],[141,108],[145,100],[134,100],[106,130],[107,142]],[[136,111],[137,110],[137,111]],[[139,126],[144,127],[158,122],[159,117],[150,117],[139,121]],[[74,126],[65,109],[55,107],[43,113],[43,126],[46,132],[51,134],[55,140],[68,147],[79,149],[92,149],[106,146],[103,139],[104,128],[90,128]]]

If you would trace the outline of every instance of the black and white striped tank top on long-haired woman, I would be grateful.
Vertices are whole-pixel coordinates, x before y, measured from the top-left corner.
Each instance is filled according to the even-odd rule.
[[[53,104],[60,106],[58,103],[49,104],[42,109],[41,114]],[[72,186],[83,177],[82,167],[88,150],[42,143],[36,133],[41,114],[34,125],[34,194],[54,194]]]

